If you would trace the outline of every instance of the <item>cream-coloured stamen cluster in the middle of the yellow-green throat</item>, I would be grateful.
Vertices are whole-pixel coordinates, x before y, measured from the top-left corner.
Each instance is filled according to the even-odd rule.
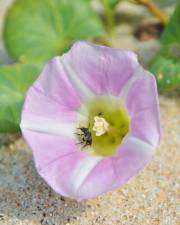
[[[109,123],[101,116],[94,117],[93,131],[96,132],[96,136],[101,136],[109,130]]]

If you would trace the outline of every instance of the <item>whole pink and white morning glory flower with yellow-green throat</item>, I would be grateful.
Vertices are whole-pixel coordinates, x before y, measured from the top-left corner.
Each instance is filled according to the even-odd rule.
[[[83,200],[112,191],[159,143],[154,76],[131,51],[77,42],[30,87],[21,130],[38,173],[57,193]]]

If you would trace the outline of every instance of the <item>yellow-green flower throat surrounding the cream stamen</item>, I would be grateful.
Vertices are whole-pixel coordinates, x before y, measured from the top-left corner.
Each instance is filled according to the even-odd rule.
[[[80,121],[82,151],[113,156],[129,131],[129,115],[115,97],[97,97],[86,104],[88,119]],[[85,128],[86,130],[84,130]]]

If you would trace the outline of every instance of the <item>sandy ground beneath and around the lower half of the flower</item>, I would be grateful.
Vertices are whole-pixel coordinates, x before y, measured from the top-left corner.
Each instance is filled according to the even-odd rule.
[[[161,96],[160,106],[162,141],[154,160],[122,188],[80,203],[44,183],[21,138],[8,144],[3,136],[0,225],[180,224],[180,102]]]

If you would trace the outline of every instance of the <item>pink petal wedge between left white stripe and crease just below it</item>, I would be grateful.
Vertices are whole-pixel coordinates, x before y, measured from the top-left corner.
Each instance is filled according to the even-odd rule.
[[[37,170],[40,172],[56,160],[78,151],[75,140],[23,129],[23,135],[30,145]]]

